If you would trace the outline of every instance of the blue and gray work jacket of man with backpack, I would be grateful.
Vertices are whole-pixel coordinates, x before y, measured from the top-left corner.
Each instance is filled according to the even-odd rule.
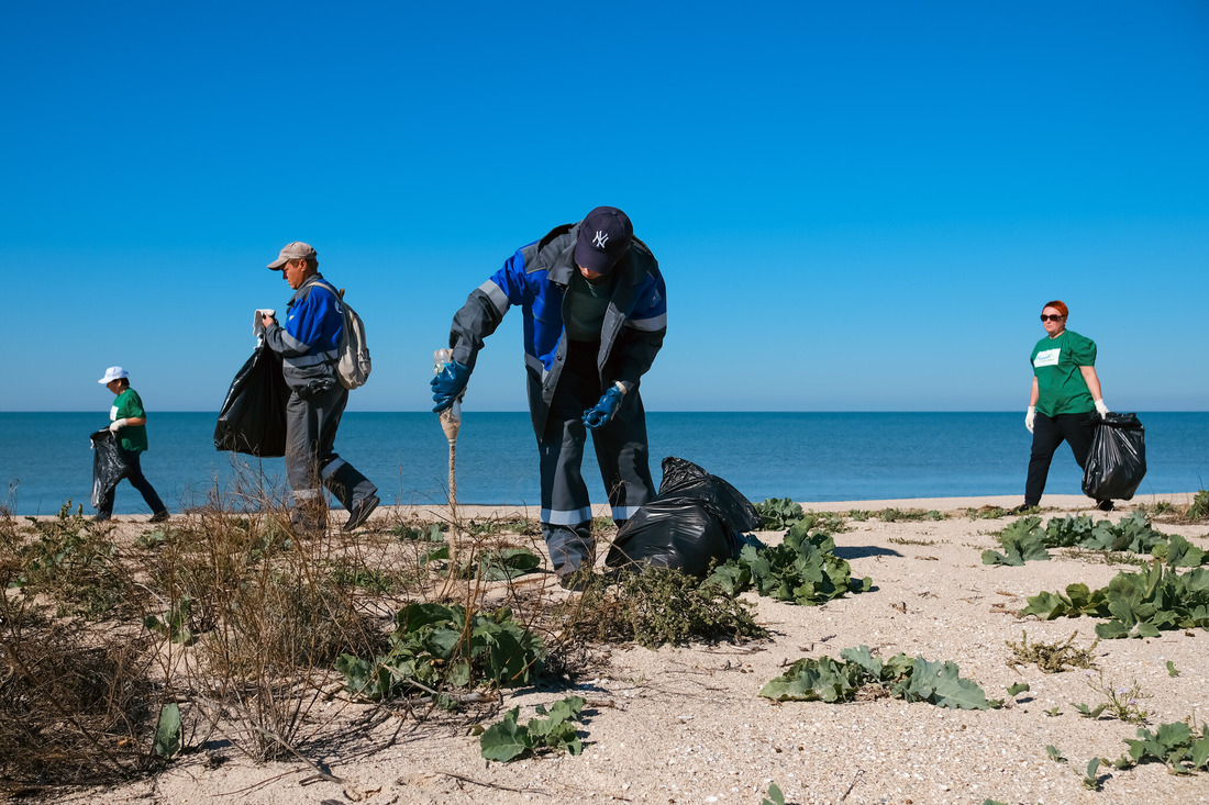
[[[291,389],[336,380],[345,311],[331,283],[316,273],[294,291],[285,311],[285,326],[273,325],[265,343],[282,357],[282,376]]]

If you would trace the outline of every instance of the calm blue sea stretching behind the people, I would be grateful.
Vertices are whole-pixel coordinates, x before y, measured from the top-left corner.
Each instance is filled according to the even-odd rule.
[[[280,458],[214,448],[216,413],[152,412],[143,471],[172,511],[220,502],[254,505],[284,492]],[[1196,492],[1209,482],[1209,412],[1140,412],[1147,473],[1135,499]],[[0,412],[0,506],[15,515],[92,511],[88,435],[105,412]],[[664,457],[687,458],[752,500],[880,500],[1020,496],[1030,439],[1013,412],[648,412],[650,469],[658,487]],[[449,444],[432,413],[347,412],[336,450],[377,486],[383,503],[449,500]],[[591,447],[584,477],[606,500]],[[1047,493],[1081,494],[1070,451],[1054,456]],[[457,499],[467,504],[540,506],[537,440],[526,412],[464,412],[457,440]],[[149,514],[129,483],[117,514]]]

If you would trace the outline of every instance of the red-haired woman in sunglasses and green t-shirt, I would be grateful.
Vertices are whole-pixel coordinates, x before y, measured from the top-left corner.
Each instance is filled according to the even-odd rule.
[[[1029,476],[1024,485],[1024,505],[1017,511],[1041,504],[1049,463],[1063,441],[1070,445],[1080,467],[1087,463],[1095,435],[1095,413],[1104,416],[1109,406],[1100,393],[1095,375],[1095,342],[1066,329],[1070,311],[1060,300],[1046,302],[1041,308],[1041,338],[1029,355],[1032,364],[1032,392],[1024,427],[1032,434],[1029,456]],[[1104,511],[1112,510],[1112,500],[1097,500]]]

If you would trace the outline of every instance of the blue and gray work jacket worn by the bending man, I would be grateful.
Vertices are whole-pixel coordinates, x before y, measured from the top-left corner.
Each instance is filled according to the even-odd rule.
[[[567,358],[562,306],[573,272],[579,271],[574,260],[579,226],[565,224],[505,260],[470,293],[450,331],[453,360],[473,370],[484,338],[496,331],[508,308],[519,305],[525,311],[530,416],[539,440]],[[664,344],[667,291],[659,262],[638,238],[613,271],[619,276],[604,312],[596,367],[602,388],[620,382],[629,393]]]

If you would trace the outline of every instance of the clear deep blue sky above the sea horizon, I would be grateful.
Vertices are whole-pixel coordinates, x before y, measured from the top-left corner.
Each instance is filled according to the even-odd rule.
[[[121,364],[216,411],[294,239],[366,322],[349,410],[424,410],[467,294],[597,204],[666,277],[650,410],[1023,411],[1054,297],[1110,407],[1209,409],[1202,0],[5,4],[0,74],[0,410]],[[467,409],[523,386],[514,312]]]

